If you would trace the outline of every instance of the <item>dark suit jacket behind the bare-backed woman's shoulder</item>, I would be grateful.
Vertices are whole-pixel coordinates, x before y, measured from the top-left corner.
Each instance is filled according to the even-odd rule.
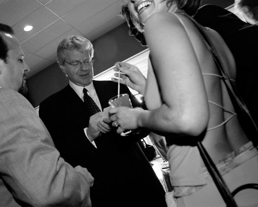
[[[258,26],[212,4],[200,7],[194,19],[216,30],[231,50],[236,61],[238,92],[258,126]]]

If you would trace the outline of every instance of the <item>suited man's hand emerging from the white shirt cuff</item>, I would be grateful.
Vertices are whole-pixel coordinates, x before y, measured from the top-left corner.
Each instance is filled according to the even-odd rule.
[[[102,116],[103,112],[98,112],[90,117],[87,135],[91,142],[100,136],[97,124],[99,121],[102,121]]]

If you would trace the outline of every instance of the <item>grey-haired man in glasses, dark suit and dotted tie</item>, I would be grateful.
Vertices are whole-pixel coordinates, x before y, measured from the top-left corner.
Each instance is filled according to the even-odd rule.
[[[93,175],[93,207],[166,206],[163,187],[137,143],[148,133],[121,137],[109,119],[102,120],[117,84],[92,80],[92,57],[86,38],[74,35],[60,41],[57,60],[69,84],[40,104],[39,116],[61,156]],[[139,106],[125,85],[120,93],[128,93],[132,105]]]

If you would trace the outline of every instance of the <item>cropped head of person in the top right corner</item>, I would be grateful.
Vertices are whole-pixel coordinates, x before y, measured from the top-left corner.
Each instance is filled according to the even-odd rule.
[[[243,15],[246,22],[251,25],[258,25],[258,1],[235,0],[235,8]]]

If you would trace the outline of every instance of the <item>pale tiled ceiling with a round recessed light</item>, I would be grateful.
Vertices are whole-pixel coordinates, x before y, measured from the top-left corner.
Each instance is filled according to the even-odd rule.
[[[11,26],[30,67],[27,78],[56,62],[60,40],[82,35],[90,41],[124,23],[125,0],[0,0],[0,22]],[[23,28],[32,25],[25,32]]]

